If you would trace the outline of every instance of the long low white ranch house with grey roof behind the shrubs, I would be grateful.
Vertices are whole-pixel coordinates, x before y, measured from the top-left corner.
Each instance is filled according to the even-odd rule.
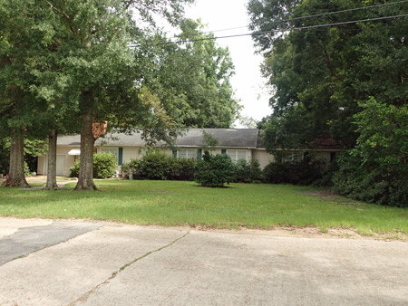
[[[259,129],[189,129],[186,134],[176,139],[175,148],[169,148],[165,143],[156,145],[173,155],[175,158],[198,158],[205,146],[203,131],[218,139],[218,145],[211,152],[213,154],[228,154],[236,161],[238,159],[250,160],[256,158],[260,167],[263,168],[274,157],[267,153],[259,138]],[[80,135],[62,136],[57,140],[57,176],[69,176],[70,167],[80,155]],[[338,146],[320,146],[315,151],[316,158],[323,159],[328,164],[334,158],[335,152],[341,150]],[[95,152],[110,152],[118,161],[118,170],[122,163],[131,161],[131,158],[141,158],[146,150],[146,142],[141,139],[141,134],[108,134],[95,141]],[[37,174],[47,174],[47,158],[45,155],[38,158]]]

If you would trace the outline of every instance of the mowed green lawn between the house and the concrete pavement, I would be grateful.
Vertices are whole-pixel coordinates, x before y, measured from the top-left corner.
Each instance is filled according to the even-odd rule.
[[[139,225],[272,228],[353,227],[360,234],[408,234],[408,209],[368,205],[305,186],[194,182],[95,181],[99,191],[0,188],[0,215],[81,218]]]

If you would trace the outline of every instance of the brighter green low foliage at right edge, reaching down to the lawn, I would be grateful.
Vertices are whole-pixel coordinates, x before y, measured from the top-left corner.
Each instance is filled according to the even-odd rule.
[[[408,107],[374,99],[355,115],[357,145],[339,159],[333,179],[341,195],[385,206],[408,206]]]

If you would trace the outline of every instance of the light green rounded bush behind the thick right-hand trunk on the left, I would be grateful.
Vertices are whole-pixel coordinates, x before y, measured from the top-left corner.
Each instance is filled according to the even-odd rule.
[[[93,177],[108,178],[112,177],[116,171],[116,158],[107,152],[93,154]],[[77,159],[70,167],[69,177],[79,177],[80,160]]]

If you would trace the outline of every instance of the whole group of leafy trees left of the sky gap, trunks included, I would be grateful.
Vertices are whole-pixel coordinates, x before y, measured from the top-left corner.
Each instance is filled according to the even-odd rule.
[[[170,141],[182,127],[229,127],[239,107],[228,50],[214,41],[160,44],[153,15],[180,25],[181,39],[202,29],[181,17],[189,2],[0,0],[1,124],[12,135],[11,164],[19,160],[11,173],[23,174],[24,135],[49,136],[55,177],[56,136],[80,131],[76,188],[93,189],[95,122],[141,130],[150,142]],[[21,175],[15,185],[26,185]]]

